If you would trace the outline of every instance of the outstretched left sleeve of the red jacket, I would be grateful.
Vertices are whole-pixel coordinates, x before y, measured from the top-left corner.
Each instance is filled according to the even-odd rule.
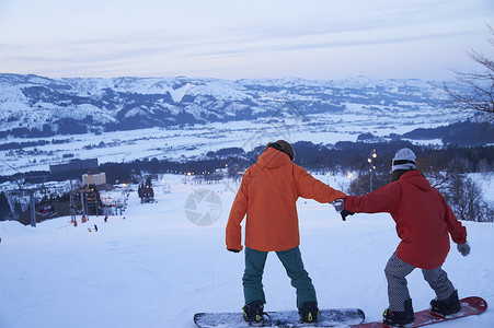
[[[391,183],[361,197],[348,196],[345,199],[345,210],[355,213],[393,214],[398,210],[401,195],[400,185]]]

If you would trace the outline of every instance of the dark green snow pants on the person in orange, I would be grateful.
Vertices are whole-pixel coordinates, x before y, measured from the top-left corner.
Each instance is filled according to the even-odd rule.
[[[299,247],[288,250],[276,251],[279,260],[285,267],[291,285],[297,290],[297,307],[301,308],[305,302],[318,302],[312,280],[303,268]],[[243,295],[245,303],[263,301],[266,303],[263,291],[263,273],[266,263],[267,251],[255,250],[245,247],[245,271],[243,273]]]

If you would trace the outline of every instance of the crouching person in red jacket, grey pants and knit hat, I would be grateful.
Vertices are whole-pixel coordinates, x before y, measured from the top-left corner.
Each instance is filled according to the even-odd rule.
[[[430,309],[441,315],[460,312],[458,291],[441,269],[449,253],[449,235],[461,255],[470,253],[467,230],[457,220],[443,195],[430,186],[415,166],[415,154],[404,148],[392,161],[391,184],[366,196],[348,196],[336,203],[343,220],[354,213],[388,212],[397,223],[401,238],[386,266],[389,308],[383,323],[403,326],[415,319],[406,276],[421,268],[424,279],[436,293]],[[337,202],[337,201],[336,201]]]

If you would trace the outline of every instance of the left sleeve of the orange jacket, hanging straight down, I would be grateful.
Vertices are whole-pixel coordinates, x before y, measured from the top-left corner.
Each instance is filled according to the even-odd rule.
[[[242,226],[240,223],[245,216],[249,203],[249,171],[242,177],[239,191],[230,210],[227,223],[227,249],[242,250]]]

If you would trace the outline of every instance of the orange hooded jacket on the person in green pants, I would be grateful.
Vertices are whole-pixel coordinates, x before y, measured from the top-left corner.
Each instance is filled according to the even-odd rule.
[[[242,250],[240,223],[246,214],[245,246],[262,251],[300,244],[296,201],[331,202],[346,195],[312,177],[289,156],[268,148],[242,177],[227,224],[227,248]]]

